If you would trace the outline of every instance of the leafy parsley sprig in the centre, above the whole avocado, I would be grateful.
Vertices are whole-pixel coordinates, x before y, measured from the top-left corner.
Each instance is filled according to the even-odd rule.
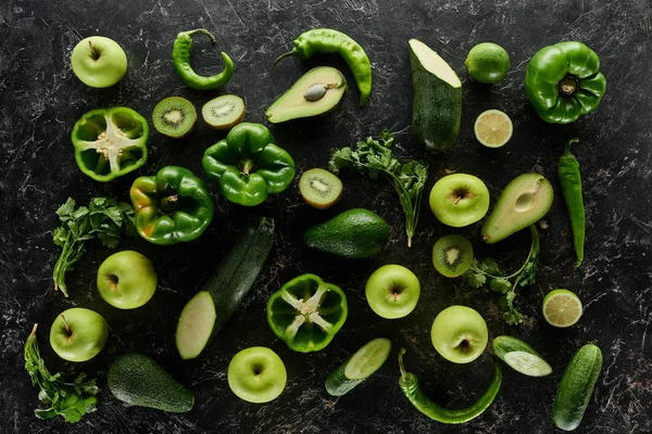
[[[376,179],[385,175],[399,194],[403,213],[405,213],[405,232],[408,246],[412,246],[412,238],[416,231],[421,200],[428,180],[428,166],[418,161],[399,163],[392,155],[393,133],[381,131],[380,139],[368,137],[358,142],[355,149],[341,148],[335,150],[328,162],[328,170],[339,174],[342,168],[354,168],[369,178]]]

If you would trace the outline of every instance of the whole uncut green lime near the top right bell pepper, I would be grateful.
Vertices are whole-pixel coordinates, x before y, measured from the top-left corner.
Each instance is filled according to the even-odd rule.
[[[491,85],[507,75],[510,54],[497,43],[482,42],[471,49],[464,63],[471,78]]]

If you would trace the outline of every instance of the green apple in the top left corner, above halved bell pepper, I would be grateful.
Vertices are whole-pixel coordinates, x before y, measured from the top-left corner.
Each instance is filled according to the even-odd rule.
[[[91,88],[115,85],[127,72],[127,55],[113,39],[91,36],[82,39],[71,55],[73,73]]]

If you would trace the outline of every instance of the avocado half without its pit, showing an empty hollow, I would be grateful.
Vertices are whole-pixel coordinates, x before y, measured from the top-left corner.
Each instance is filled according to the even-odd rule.
[[[550,210],[552,186],[542,175],[525,174],[513,179],[500,195],[482,226],[482,240],[493,244],[536,224]]]

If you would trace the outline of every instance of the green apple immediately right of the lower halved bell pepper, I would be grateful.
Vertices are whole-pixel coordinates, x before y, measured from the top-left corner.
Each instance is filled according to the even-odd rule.
[[[386,265],[372,273],[365,286],[372,310],[383,318],[403,318],[416,307],[421,284],[412,271],[400,265]]]

